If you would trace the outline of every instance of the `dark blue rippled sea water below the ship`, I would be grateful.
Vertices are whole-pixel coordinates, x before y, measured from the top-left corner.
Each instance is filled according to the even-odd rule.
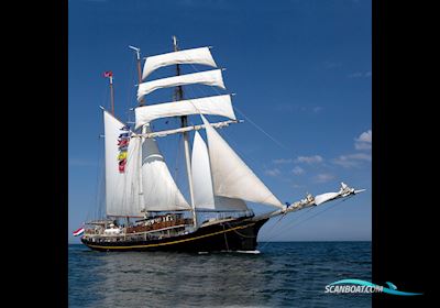
[[[371,242],[257,249],[199,255],[69,245],[69,307],[371,307],[371,295],[324,294],[339,279],[371,280]]]

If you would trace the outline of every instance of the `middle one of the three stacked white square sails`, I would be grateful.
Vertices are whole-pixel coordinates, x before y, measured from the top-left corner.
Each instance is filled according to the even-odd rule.
[[[193,84],[202,84],[226,89],[221,69],[213,69],[143,82],[138,88],[138,101],[141,101],[144,96],[157,89]]]

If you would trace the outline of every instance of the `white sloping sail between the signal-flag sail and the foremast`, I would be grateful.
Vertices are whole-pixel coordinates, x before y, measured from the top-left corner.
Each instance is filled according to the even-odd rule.
[[[145,127],[145,133],[151,132]],[[142,187],[146,211],[190,210],[154,139],[142,143]]]

